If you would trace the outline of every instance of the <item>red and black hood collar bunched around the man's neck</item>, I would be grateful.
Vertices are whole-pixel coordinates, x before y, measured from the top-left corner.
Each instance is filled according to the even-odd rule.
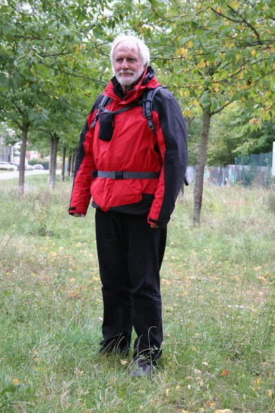
[[[157,86],[160,86],[160,83],[157,81],[155,70],[153,67],[148,66],[142,74],[142,77],[137,81],[133,88],[126,93],[126,95],[122,91],[122,87],[115,76],[109,81],[104,90],[104,95],[110,96],[110,98],[113,98],[114,100],[121,101],[123,99],[123,103],[129,103],[129,101],[140,98],[146,87],[155,89]]]

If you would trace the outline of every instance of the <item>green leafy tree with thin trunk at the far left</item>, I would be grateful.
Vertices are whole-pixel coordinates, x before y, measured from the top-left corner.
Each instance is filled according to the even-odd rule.
[[[102,70],[89,60],[97,44],[90,42],[87,51],[83,39],[87,43],[93,30],[103,27],[103,10],[104,1],[88,12],[80,0],[9,0],[0,6],[1,120],[21,130],[20,195],[30,128],[49,119],[52,99],[83,96],[94,78],[100,85]]]

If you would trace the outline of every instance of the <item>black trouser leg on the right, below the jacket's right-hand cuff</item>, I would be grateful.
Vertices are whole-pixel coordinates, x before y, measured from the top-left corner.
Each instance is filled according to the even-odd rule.
[[[131,280],[132,322],[137,339],[134,357],[161,355],[162,299],[159,270],[166,246],[166,228],[151,229],[146,218],[124,215],[128,271]]]

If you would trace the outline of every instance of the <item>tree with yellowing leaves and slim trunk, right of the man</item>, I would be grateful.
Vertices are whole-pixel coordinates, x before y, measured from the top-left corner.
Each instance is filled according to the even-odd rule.
[[[129,28],[153,48],[154,64],[184,103],[184,114],[200,109],[203,118],[193,211],[199,224],[212,116],[235,100],[254,100],[254,127],[259,118],[274,116],[274,0],[151,0],[132,6]]]

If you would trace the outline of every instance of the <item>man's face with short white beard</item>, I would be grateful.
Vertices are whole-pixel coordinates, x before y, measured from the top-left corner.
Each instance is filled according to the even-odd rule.
[[[113,67],[115,77],[124,92],[127,92],[145,70],[137,45],[133,44],[131,50],[126,50],[122,44],[117,45],[113,54]]]

